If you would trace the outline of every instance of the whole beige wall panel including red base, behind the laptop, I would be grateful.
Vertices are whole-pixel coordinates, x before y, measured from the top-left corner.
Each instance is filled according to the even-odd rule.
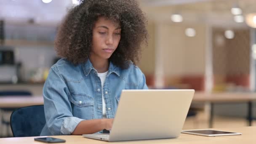
[[[196,30],[195,37],[185,35],[186,28]],[[184,88],[203,90],[205,73],[205,25],[160,23],[156,51],[160,50],[165,86],[188,84]],[[157,57],[157,59],[158,59]],[[197,87],[200,85],[200,87]]]

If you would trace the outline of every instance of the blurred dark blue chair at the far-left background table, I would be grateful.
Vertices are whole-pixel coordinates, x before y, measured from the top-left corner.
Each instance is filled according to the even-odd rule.
[[[0,96],[32,96],[32,93],[30,91],[0,91]],[[6,119],[6,117],[10,117],[11,112],[13,112],[13,110],[16,109],[16,107],[13,108],[0,108],[1,110],[1,125],[2,127],[5,126],[6,127],[6,136],[10,137],[11,134],[9,132],[10,129],[10,121],[9,118]],[[3,136],[3,131],[2,131],[2,136]]]

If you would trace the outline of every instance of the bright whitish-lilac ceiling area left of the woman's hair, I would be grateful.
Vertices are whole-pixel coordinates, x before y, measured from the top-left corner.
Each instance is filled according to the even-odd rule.
[[[42,25],[56,25],[72,6],[72,0],[0,0],[0,19],[6,23],[23,24],[35,22]]]

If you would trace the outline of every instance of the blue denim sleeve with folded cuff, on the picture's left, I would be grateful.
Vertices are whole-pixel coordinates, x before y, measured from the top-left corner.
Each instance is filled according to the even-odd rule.
[[[69,96],[58,67],[53,66],[43,87],[46,125],[52,135],[70,135],[83,120],[72,115]]]

